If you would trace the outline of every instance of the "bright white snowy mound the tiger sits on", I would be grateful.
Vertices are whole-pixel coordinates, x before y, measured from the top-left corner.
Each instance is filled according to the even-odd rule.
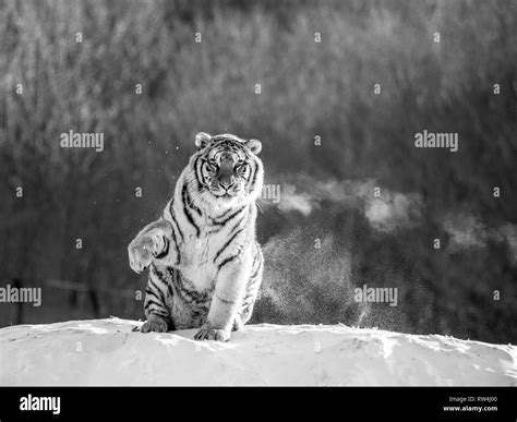
[[[230,342],[118,318],[0,329],[0,385],[517,385],[517,347],[337,326],[251,325]]]

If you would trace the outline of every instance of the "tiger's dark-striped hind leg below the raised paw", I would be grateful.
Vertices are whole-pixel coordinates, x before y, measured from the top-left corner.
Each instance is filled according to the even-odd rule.
[[[166,275],[152,265],[144,302],[147,321],[140,329],[142,333],[166,333],[175,329],[168,306],[172,300],[172,290],[167,281]]]

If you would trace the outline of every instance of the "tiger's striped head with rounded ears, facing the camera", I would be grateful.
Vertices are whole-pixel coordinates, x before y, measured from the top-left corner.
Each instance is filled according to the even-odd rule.
[[[201,202],[229,208],[255,201],[262,192],[264,169],[258,140],[231,134],[195,135],[197,152],[190,159],[190,182]]]

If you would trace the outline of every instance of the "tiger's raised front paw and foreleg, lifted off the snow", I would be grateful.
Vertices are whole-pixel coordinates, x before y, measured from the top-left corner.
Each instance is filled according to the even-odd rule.
[[[172,226],[164,218],[146,226],[128,246],[131,268],[140,274],[153,260],[167,255],[171,236]]]

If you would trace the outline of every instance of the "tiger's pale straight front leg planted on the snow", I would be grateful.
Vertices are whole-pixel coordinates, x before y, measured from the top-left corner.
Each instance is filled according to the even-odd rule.
[[[195,334],[196,340],[228,341],[245,293],[252,266],[251,251],[219,263],[214,296],[206,323]]]

